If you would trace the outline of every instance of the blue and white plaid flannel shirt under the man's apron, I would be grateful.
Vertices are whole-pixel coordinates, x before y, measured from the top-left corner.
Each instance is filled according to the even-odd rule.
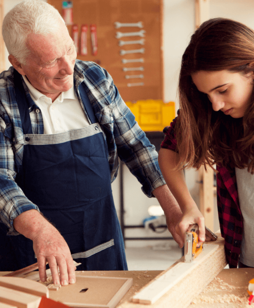
[[[0,221],[9,227],[8,235],[19,234],[13,227],[13,219],[19,214],[29,209],[39,211],[15,183],[22,164],[24,138],[13,71],[10,67],[0,75]],[[157,152],[121,99],[112,77],[96,63],[76,60],[74,87],[80,102],[78,86],[82,82],[87,86],[88,97],[107,141],[111,180],[117,176],[119,157],[143,185],[143,192],[153,197],[152,191],[165,184]],[[30,96],[25,82],[23,86],[26,96]],[[43,134],[41,111],[35,111],[39,109],[35,104],[28,107],[33,133]]]

